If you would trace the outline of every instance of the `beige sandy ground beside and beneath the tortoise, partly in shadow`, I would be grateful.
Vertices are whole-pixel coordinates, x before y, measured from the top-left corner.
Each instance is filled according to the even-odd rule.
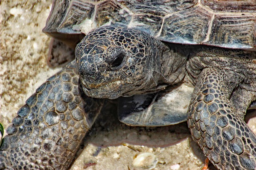
[[[50,8],[51,0],[5,0],[0,5],[0,122],[5,129],[26,98],[61,69],[46,64],[50,38],[42,28]],[[251,124],[255,131],[255,123]],[[129,127],[120,123],[116,114],[104,113],[89,131],[70,169],[141,169],[132,162],[145,152],[156,156],[156,170],[204,166],[205,157],[192,141],[186,123]]]

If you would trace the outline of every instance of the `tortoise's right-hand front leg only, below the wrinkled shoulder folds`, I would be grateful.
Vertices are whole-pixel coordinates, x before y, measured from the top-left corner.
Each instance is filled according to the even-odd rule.
[[[230,101],[242,79],[233,71],[204,68],[188,108],[192,138],[218,169],[256,169],[256,137],[239,113],[240,107]],[[244,94],[248,96],[240,106],[247,108],[255,92]]]

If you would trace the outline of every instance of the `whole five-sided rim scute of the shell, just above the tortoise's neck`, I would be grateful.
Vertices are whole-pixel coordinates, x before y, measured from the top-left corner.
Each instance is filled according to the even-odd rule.
[[[207,36],[212,14],[200,7],[189,8],[168,16],[159,38],[174,43],[201,44]]]

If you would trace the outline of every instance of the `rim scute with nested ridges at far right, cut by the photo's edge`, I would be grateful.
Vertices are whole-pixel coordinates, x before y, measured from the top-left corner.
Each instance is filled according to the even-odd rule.
[[[255,16],[216,16],[212,24],[208,45],[248,49],[255,47]]]

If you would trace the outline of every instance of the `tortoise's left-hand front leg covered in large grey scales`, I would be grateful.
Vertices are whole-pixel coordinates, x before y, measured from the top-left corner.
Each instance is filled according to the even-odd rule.
[[[74,63],[42,84],[18,111],[0,149],[0,169],[66,169],[101,104],[81,98]],[[94,101],[92,101],[94,100]]]

